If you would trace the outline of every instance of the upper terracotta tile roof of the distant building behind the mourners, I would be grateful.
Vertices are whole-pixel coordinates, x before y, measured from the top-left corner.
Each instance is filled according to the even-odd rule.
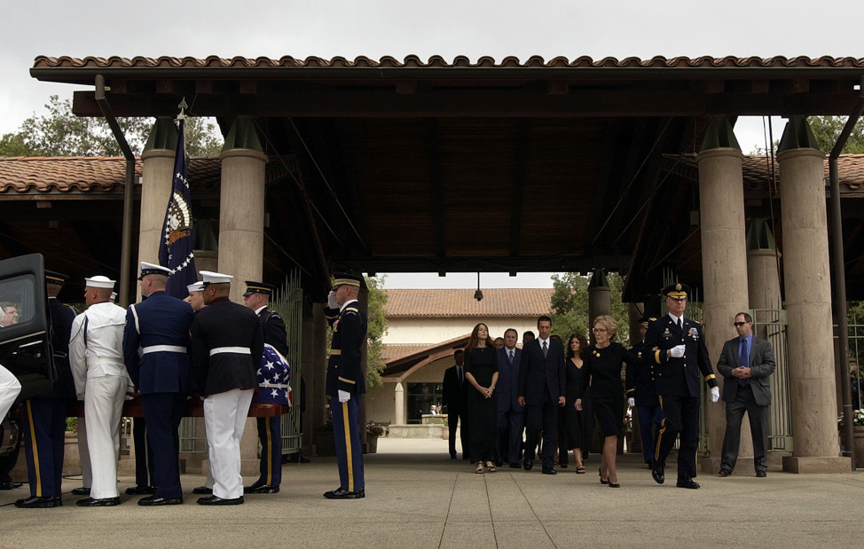
[[[483,288],[475,290],[386,290],[387,318],[406,317],[538,317],[551,311],[552,288]]]

